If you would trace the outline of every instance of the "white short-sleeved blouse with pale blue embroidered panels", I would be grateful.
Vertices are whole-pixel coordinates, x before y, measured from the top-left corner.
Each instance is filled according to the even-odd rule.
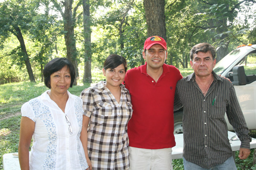
[[[82,100],[68,91],[65,113],[52,101],[47,90],[21,107],[22,116],[35,122],[33,146],[29,156],[30,170],[86,170],[84,149],[80,140]],[[72,134],[66,115],[70,121]]]

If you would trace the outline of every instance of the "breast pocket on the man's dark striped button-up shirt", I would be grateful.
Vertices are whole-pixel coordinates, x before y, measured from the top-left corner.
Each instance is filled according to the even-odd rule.
[[[213,112],[209,117],[213,119],[224,119],[226,113],[226,101],[215,101],[213,105]]]

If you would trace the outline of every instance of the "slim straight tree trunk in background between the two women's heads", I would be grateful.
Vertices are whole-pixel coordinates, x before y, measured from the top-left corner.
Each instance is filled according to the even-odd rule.
[[[83,28],[84,28],[84,76],[83,82],[92,82],[91,63],[91,29],[90,29],[90,2],[83,0]]]

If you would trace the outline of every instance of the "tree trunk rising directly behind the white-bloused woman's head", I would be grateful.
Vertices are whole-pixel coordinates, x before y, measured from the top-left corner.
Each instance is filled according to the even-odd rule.
[[[75,46],[74,38],[74,20],[72,14],[72,3],[73,0],[65,0],[65,11],[64,11],[64,31],[65,33],[65,44],[67,47],[67,58],[71,61],[75,68],[75,75],[79,77],[78,67],[77,67],[77,51]],[[76,78],[74,80],[74,85],[77,85]]]

